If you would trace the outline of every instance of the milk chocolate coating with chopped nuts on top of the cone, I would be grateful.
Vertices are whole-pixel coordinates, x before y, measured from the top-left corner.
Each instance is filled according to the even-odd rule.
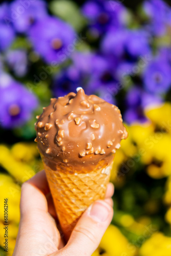
[[[69,93],[44,108],[35,125],[44,162],[70,173],[91,172],[110,164],[127,138],[120,110],[95,95]]]

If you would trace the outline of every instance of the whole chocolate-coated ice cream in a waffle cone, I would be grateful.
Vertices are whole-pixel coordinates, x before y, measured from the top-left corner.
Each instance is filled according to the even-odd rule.
[[[127,132],[117,106],[82,89],[51,99],[37,119],[35,141],[67,241],[82,212],[104,198]]]

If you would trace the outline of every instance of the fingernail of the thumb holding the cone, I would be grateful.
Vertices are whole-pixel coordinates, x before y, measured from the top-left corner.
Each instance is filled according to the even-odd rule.
[[[97,222],[104,222],[108,219],[110,209],[105,203],[96,201],[90,209],[90,217]]]

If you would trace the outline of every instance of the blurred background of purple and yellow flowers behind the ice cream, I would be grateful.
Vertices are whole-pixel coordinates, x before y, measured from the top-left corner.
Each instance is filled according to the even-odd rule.
[[[0,255],[11,256],[20,187],[42,169],[35,116],[81,86],[116,104],[129,138],[111,181],[114,217],[93,256],[171,255],[169,1],[15,0],[0,5]],[[4,252],[4,198],[9,252]]]

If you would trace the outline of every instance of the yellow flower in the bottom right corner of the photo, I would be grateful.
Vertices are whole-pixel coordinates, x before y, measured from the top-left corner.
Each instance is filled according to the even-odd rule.
[[[141,246],[140,256],[170,256],[171,238],[164,236],[163,233],[156,232]]]

